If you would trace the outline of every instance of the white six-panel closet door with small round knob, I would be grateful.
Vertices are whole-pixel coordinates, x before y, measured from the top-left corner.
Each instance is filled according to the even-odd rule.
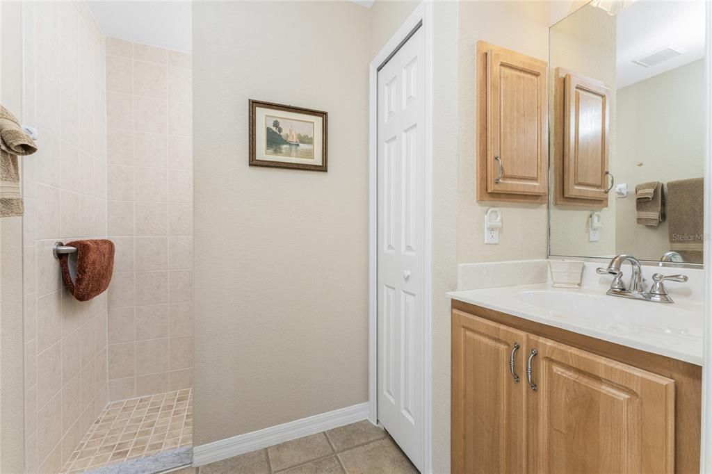
[[[423,463],[424,37],[378,72],[378,419]]]

